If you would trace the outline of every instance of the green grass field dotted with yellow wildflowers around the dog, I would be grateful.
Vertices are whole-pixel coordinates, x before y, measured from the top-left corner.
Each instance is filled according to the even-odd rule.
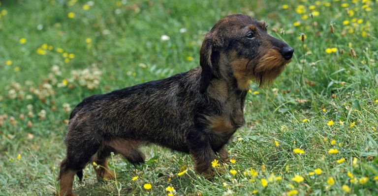
[[[378,195],[377,10],[377,0],[1,0],[0,195],[55,195],[75,105],[199,66],[204,34],[233,13],[295,49],[272,86],[251,83],[227,146],[235,162],[209,181],[189,155],[151,145],[143,165],[110,160],[116,181],[88,166],[74,192]]]

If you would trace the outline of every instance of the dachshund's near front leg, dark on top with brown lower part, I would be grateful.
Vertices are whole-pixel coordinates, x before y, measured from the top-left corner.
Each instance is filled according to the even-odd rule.
[[[209,137],[199,130],[190,130],[187,134],[189,153],[195,161],[195,171],[203,174],[212,174],[211,162],[217,159],[209,143]]]

